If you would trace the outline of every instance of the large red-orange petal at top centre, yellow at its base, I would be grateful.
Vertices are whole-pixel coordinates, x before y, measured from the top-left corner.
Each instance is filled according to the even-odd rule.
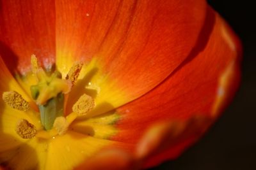
[[[205,7],[205,1],[57,1],[58,69],[67,73],[75,60],[95,59],[97,101],[123,96],[110,103],[120,106],[154,88],[203,43],[196,40]]]

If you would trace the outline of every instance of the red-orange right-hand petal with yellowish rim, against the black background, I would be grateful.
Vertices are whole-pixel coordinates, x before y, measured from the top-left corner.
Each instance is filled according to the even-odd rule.
[[[215,18],[215,24],[203,51],[195,58],[187,60],[167,80],[145,96],[118,108],[119,132],[113,137],[114,140],[137,143],[145,129],[154,122],[179,120],[183,122],[182,124],[186,124],[195,115],[214,120],[218,115],[214,114],[214,111],[219,111],[217,109],[219,107],[223,108],[223,104],[227,104],[227,99],[234,95],[239,80],[236,71],[239,62],[237,57],[241,49],[236,36],[219,15],[211,9],[208,12]],[[227,74],[227,69],[229,76],[223,76]],[[225,82],[221,92],[223,97],[216,108],[222,81]],[[202,128],[204,129],[204,126]],[[180,135],[182,134],[186,134],[186,131],[182,131]],[[183,138],[179,141],[180,145],[172,146],[168,150],[169,158],[170,155],[172,158],[177,157],[197,138],[198,136]]]

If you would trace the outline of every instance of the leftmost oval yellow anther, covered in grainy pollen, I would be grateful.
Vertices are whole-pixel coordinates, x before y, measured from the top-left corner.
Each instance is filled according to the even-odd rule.
[[[3,101],[13,109],[20,111],[28,111],[29,103],[25,101],[22,96],[15,91],[3,92]]]

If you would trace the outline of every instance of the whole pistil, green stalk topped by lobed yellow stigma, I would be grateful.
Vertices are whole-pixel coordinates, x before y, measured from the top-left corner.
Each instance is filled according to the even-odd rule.
[[[42,69],[38,70],[38,83],[30,87],[31,96],[38,105],[41,124],[45,130],[52,129],[54,120],[63,116],[64,95],[70,87],[67,80],[61,79],[61,74],[55,71],[47,75]]]

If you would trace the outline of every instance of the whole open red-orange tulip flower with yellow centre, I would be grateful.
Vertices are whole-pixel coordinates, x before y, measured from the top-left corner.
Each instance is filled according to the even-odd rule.
[[[241,46],[205,1],[1,1],[0,163],[140,169],[227,106]]]

